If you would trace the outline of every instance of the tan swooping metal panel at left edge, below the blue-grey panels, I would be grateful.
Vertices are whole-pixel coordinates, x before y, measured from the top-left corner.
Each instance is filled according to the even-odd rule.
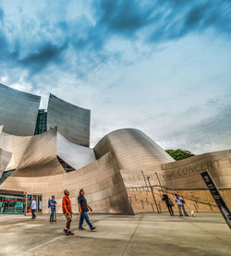
[[[56,157],[57,129],[36,136],[13,136],[2,133],[0,148],[12,152],[6,170],[16,169],[12,176],[42,177],[65,173]]]

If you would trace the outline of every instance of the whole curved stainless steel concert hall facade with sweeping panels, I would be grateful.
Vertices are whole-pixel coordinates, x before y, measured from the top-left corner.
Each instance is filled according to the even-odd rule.
[[[40,97],[4,85],[0,92],[0,189],[35,196],[43,213],[48,213],[47,201],[53,194],[61,213],[64,189],[77,209],[76,197],[84,188],[94,212],[133,214],[127,189],[145,186],[143,173],[153,184],[158,177],[166,187],[204,189],[200,172],[208,167],[220,188],[231,189],[231,151],[175,162],[134,128],[113,131],[90,148],[90,110],[53,94],[47,131],[34,135]]]

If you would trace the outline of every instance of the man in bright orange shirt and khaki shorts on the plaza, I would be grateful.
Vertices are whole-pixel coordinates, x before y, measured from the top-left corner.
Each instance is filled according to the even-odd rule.
[[[69,235],[74,235],[74,233],[72,233],[70,231],[70,223],[72,221],[72,209],[71,209],[71,201],[69,199],[69,191],[67,189],[64,190],[64,197],[63,197],[63,201],[62,201],[62,209],[63,209],[63,213],[67,219],[67,225],[64,229],[64,232],[66,233],[67,236]]]

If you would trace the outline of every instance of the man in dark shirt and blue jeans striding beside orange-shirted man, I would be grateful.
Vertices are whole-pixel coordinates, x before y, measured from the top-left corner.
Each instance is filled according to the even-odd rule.
[[[79,197],[78,197],[78,204],[79,204],[79,230],[84,230],[82,227],[83,221],[85,220],[86,223],[89,225],[91,231],[95,230],[96,227],[92,226],[91,221],[88,216],[89,209],[92,212],[91,207],[88,205],[87,200],[84,197],[84,190],[79,190]]]

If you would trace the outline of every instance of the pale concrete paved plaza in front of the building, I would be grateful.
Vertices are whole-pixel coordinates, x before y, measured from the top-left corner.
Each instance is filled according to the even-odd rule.
[[[79,215],[74,215],[75,235],[66,237],[62,215],[53,224],[45,214],[35,221],[30,216],[0,215],[0,255],[231,255],[231,231],[220,213],[90,217],[97,232],[78,230]]]

